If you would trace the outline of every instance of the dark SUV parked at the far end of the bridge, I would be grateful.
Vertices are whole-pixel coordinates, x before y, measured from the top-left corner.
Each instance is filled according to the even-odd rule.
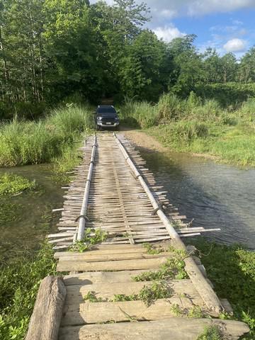
[[[115,108],[111,105],[98,105],[95,114],[96,130],[115,128],[118,130],[120,119]]]

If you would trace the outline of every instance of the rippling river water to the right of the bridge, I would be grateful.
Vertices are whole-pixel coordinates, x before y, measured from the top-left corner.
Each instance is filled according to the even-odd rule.
[[[220,227],[221,232],[206,236],[255,249],[255,169],[215,164],[187,154],[141,153],[171,203],[188,220],[194,219],[194,227]]]

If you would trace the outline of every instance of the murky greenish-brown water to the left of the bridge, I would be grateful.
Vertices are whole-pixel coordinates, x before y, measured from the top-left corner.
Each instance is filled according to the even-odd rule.
[[[0,175],[4,172],[35,179],[38,188],[36,192],[0,197],[0,259],[35,249],[44,235],[56,228],[59,215],[52,217],[52,209],[61,208],[63,202],[63,191],[53,181],[49,166],[0,169]]]

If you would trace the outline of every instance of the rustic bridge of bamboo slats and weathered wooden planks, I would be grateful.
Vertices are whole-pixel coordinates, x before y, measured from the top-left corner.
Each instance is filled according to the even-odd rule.
[[[239,339],[249,331],[217,319],[231,306],[182,241],[206,229],[185,223],[134,145],[101,132],[81,152],[55,210],[59,232],[48,235],[65,274],[42,280],[26,340],[195,340],[212,326]]]

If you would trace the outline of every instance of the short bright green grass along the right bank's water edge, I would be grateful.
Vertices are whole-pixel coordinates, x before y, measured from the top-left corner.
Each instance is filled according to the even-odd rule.
[[[255,165],[255,133],[244,130],[242,125],[222,127],[179,121],[152,128],[147,133],[176,152],[210,154],[223,162]]]

